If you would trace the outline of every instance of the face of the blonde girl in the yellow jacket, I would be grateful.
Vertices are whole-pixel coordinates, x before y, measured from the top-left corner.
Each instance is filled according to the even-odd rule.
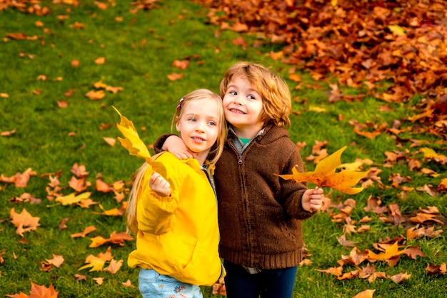
[[[176,120],[176,129],[186,146],[205,158],[219,134],[219,104],[212,100],[189,101],[181,107],[184,110]]]

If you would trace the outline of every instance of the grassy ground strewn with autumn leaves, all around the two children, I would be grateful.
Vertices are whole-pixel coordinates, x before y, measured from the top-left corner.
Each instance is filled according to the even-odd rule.
[[[0,217],[0,236],[5,239],[0,244],[0,283],[8,284],[9,279],[21,276],[27,279],[19,285],[0,286],[1,294],[136,295],[136,274],[125,264],[134,240],[124,232],[121,218],[130,179],[123,180],[123,173],[111,170],[119,168],[129,173],[134,164],[130,165],[130,159],[119,158],[125,155],[124,149],[119,150],[116,138],[109,137],[117,135],[114,125],[107,121],[118,121],[116,113],[110,111],[113,116],[108,117],[101,111],[110,104],[120,105],[120,110],[127,109],[129,118],[139,118],[140,132],[154,130],[155,136],[166,132],[171,106],[166,104],[164,93],[184,92],[190,88],[189,83],[217,88],[219,73],[224,73],[228,61],[249,59],[253,50],[257,53],[252,57],[272,59],[274,68],[283,72],[291,86],[295,108],[292,117],[298,123],[292,125],[291,137],[301,148],[308,171],[347,144],[348,150],[343,153],[347,154],[343,158],[346,163],[337,170],[368,171],[359,183],[363,191],[356,195],[346,196],[327,188],[323,211],[305,222],[309,255],[298,269],[295,297],[410,297],[414,293],[438,297],[445,293],[447,2],[194,2],[205,9],[194,14],[184,9],[175,18],[164,21],[187,27],[189,18],[199,19],[212,27],[216,41],[210,41],[210,45],[202,43],[206,39],[203,36],[185,34],[184,40],[177,40],[179,45],[175,46],[192,45],[192,54],[179,51],[166,55],[168,46],[164,42],[172,42],[169,27],[166,30],[161,29],[162,25],[159,28],[158,24],[149,23],[144,33],[135,27],[144,23],[142,19],[157,17],[149,11],[169,10],[169,1],[0,1],[0,13],[19,11],[16,21],[22,24],[26,16],[37,17],[34,26],[18,22],[8,26],[16,31],[1,33],[4,48],[11,51],[16,46],[12,50],[16,56],[10,63],[17,67],[0,83],[1,104],[8,113],[4,118],[9,120],[0,120],[0,145],[7,148],[1,150],[0,157],[2,163],[8,160],[8,166],[4,163],[1,169],[9,169],[7,173],[0,172],[1,204],[5,206]],[[76,14],[79,9],[88,13]],[[109,20],[109,30],[107,26],[101,28],[104,19]],[[124,30],[116,32],[124,32],[123,35],[111,33],[121,24]],[[226,35],[228,31],[236,35]],[[90,35],[84,36],[83,32]],[[226,49],[227,41],[222,36],[237,36],[228,40],[246,53]],[[63,42],[85,43],[85,51],[61,51]],[[116,52],[101,55],[98,51],[91,58],[90,52],[107,47],[116,48]],[[215,56],[201,57],[199,52],[209,53],[200,47],[211,48]],[[127,51],[129,48],[131,51]],[[48,60],[51,68],[37,67],[44,51],[53,55]],[[136,56],[151,51],[160,54],[151,60],[151,70],[144,73],[146,70],[133,61],[146,63]],[[122,53],[129,56],[123,57]],[[84,56],[91,60],[89,66]],[[65,59],[69,65],[51,64],[57,59]],[[20,62],[13,64],[13,60]],[[33,63],[36,67],[29,67]],[[156,63],[169,65],[163,69],[157,68]],[[32,76],[34,69],[39,68],[39,76],[24,80],[29,84],[24,87],[17,78],[26,76],[16,76],[19,67],[32,72]],[[64,71],[58,71],[59,67]],[[84,72],[86,69],[91,69],[91,73]],[[166,73],[161,75],[161,70]],[[206,78],[198,78],[203,76]],[[160,80],[146,81],[148,77]],[[216,82],[209,83],[209,77]],[[134,88],[140,78],[144,88]],[[11,88],[9,84],[14,83],[16,88]],[[55,87],[58,83],[64,84],[64,88]],[[113,99],[109,99],[111,96]],[[149,103],[148,108],[143,101],[134,99],[139,97],[154,103]],[[27,102],[30,107],[36,101],[51,98],[56,108],[29,110],[25,105],[21,110],[14,108],[20,102],[17,98],[34,98]],[[8,105],[9,101],[14,105]],[[126,102],[136,107],[126,106]],[[133,112],[129,113],[129,109]],[[146,109],[146,115],[140,115],[142,109]],[[81,114],[82,121],[96,125],[95,130],[76,132],[73,127],[79,126],[73,123],[81,120],[58,110]],[[146,123],[152,110],[156,111],[152,117],[166,121]],[[11,115],[11,111],[21,113]],[[28,113],[26,117],[22,111]],[[34,118],[36,114],[41,115],[39,120]],[[98,120],[91,122],[91,115]],[[65,122],[57,124],[59,128],[51,127],[55,125],[51,125],[50,118],[56,116],[65,117]],[[45,138],[45,130],[54,134],[61,130],[59,137],[46,137],[46,143],[30,141],[34,135],[14,128],[26,123],[26,118],[31,120],[28,127],[36,128],[41,138]],[[13,119],[19,119],[17,124]],[[42,129],[41,125],[51,128]],[[62,145],[58,144],[61,140],[65,142]],[[39,156],[26,151],[33,145]],[[42,148],[62,149],[51,152]],[[89,155],[89,148],[101,151]],[[42,156],[47,152],[51,155]],[[24,160],[29,161],[29,155],[44,170],[37,173],[34,166],[21,168],[26,164]],[[12,159],[6,158],[9,156]],[[221,287],[215,290],[224,293]],[[204,291],[206,297],[212,296],[211,289]]]

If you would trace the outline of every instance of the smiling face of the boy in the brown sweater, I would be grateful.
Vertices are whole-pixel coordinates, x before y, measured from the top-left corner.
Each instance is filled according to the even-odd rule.
[[[225,118],[239,138],[254,138],[263,128],[262,98],[246,78],[233,77],[228,83],[222,104]]]

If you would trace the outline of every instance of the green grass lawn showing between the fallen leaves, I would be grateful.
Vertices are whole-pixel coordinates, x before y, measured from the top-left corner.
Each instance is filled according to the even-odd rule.
[[[123,218],[92,213],[101,212],[98,205],[90,209],[62,205],[47,207],[54,202],[46,199],[45,187],[49,179],[44,174],[61,170],[59,180],[64,194],[72,192],[68,183],[74,163],[86,166],[92,185],[97,175],[102,175],[106,183],[129,182],[141,161],[128,155],[120,145],[111,147],[104,142],[104,137],[119,135],[114,125],[99,129],[103,123],[119,120],[111,106],[133,120],[141,138],[150,144],[161,133],[171,130],[171,115],[181,96],[196,88],[218,92],[221,77],[236,61],[250,60],[271,65],[286,78],[291,66],[265,56],[269,51],[280,50],[278,45],[264,44],[261,48],[247,46],[244,49],[232,43],[232,39],[238,37],[234,32],[222,31],[216,37],[215,32],[219,28],[206,24],[206,9],[189,1],[160,1],[159,8],[136,13],[131,13],[133,6],[130,1],[116,1],[116,6],[109,5],[106,10],[98,9],[94,1],[81,1],[76,7],[43,2],[42,6],[51,9],[49,15],[24,14],[14,9],[0,11],[0,93],[9,95],[8,98],[0,97],[0,132],[16,130],[11,136],[0,137],[0,174],[11,177],[27,168],[32,168],[37,174],[31,177],[24,189],[0,183],[0,255],[3,254],[4,259],[0,263],[0,294],[29,294],[33,282],[46,287],[53,284],[59,297],[138,297],[138,270],[130,269],[126,264],[135,242],[126,242],[124,247],[111,245],[114,259],[124,260],[116,274],[78,270],[88,255],[105,252],[108,246],[89,248],[89,238],[97,235],[109,237],[113,231],[124,231]],[[59,19],[60,15],[69,18]],[[123,21],[115,21],[116,16],[121,16]],[[35,26],[36,21],[43,22],[44,27]],[[84,27],[74,28],[75,22]],[[38,39],[6,38],[11,33],[38,36]],[[251,42],[256,37],[243,38]],[[105,57],[106,63],[94,63],[99,57]],[[172,66],[174,60],[187,57],[190,58],[189,68],[181,71]],[[79,61],[79,67],[71,66],[74,60]],[[184,78],[170,81],[167,78],[170,73],[184,73]],[[46,81],[38,79],[41,75],[46,76]],[[62,80],[55,81],[59,77]],[[331,89],[325,83],[311,81],[306,73],[301,77],[303,87],[293,91],[293,96],[306,101],[293,103],[293,109],[299,115],[291,116],[290,133],[293,141],[307,143],[302,151],[303,158],[311,154],[316,140],[327,140],[329,153],[348,145],[342,155],[342,163],[352,162],[355,158],[369,158],[382,170],[380,177],[385,189],[373,185],[358,195],[334,192],[331,197],[341,202],[349,197],[356,200],[357,205],[351,215],[353,220],[358,221],[366,215],[373,217],[369,223],[370,231],[347,235],[348,240],[358,241],[361,250],[373,250],[373,244],[380,239],[405,236],[403,225],[384,224],[378,216],[363,210],[370,196],[380,197],[382,205],[397,202],[405,214],[414,213],[419,207],[437,206],[444,217],[447,215],[445,192],[431,197],[426,192],[413,190],[402,200],[398,197],[401,190],[391,187],[388,181],[390,175],[400,173],[403,177],[408,175],[412,178],[413,182],[406,183],[407,186],[436,187],[441,179],[446,178],[445,165],[423,161],[423,168],[431,168],[441,174],[437,178],[412,172],[406,164],[383,167],[385,151],[408,150],[406,156],[419,159],[422,155],[409,143],[398,144],[391,134],[383,133],[371,140],[356,135],[349,123],[358,120],[359,123],[370,121],[391,125],[395,119],[403,121],[416,113],[413,107],[421,98],[415,96],[408,103],[389,104],[393,111],[387,112],[380,111],[385,103],[372,97],[361,102],[331,104],[328,103]],[[93,84],[100,80],[124,90],[115,94],[106,92],[101,101],[91,101],[85,94],[94,90]],[[296,86],[291,81],[288,83],[291,89]],[[321,88],[306,88],[306,83],[318,84]],[[35,91],[39,91],[39,95],[35,95]],[[65,95],[68,91],[72,91],[71,96]],[[349,94],[356,92],[359,91],[346,90]],[[63,100],[68,102],[68,108],[58,107],[57,102]],[[324,108],[325,112],[313,111],[316,107]],[[343,120],[339,120],[339,115],[343,115]],[[403,126],[409,125],[416,124],[403,121]],[[76,135],[69,136],[69,133]],[[436,136],[410,133],[400,136],[426,140],[427,146],[446,154],[446,141]],[[306,167],[313,170],[314,165],[308,163]],[[105,209],[119,207],[113,195],[97,192],[94,187],[89,190],[92,199],[101,202]],[[24,192],[40,198],[41,204],[11,202],[11,198]],[[24,238],[16,235],[16,228],[9,219],[13,207],[16,212],[25,208],[31,215],[40,217],[41,226],[36,231],[26,232]],[[59,230],[63,218],[69,219],[67,228]],[[89,225],[94,225],[97,230],[85,238],[70,237]],[[446,230],[445,226],[442,228]],[[371,284],[358,278],[339,281],[331,275],[316,272],[315,269],[336,267],[337,260],[348,255],[351,247],[338,244],[336,237],[343,235],[343,224],[332,222],[326,212],[304,222],[303,232],[313,263],[298,268],[294,297],[353,297],[365,289],[376,289],[374,297],[442,297],[447,291],[446,275],[430,276],[425,272],[428,264],[446,262],[445,232],[438,238],[423,238],[409,243],[421,246],[426,257],[417,257],[416,260],[401,257],[392,268],[386,264],[375,264],[378,271],[411,274],[410,280],[400,284],[390,279],[377,279]],[[51,259],[53,254],[62,255],[64,264],[51,272],[41,271],[41,262]],[[84,274],[86,280],[76,282],[74,274]],[[96,284],[94,277],[104,277],[104,284]],[[128,279],[134,287],[121,284]],[[204,293],[205,297],[211,297],[210,288],[204,287]]]

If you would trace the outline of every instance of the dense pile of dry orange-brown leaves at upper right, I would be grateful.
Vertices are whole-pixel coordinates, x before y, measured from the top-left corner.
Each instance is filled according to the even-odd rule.
[[[373,96],[403,103],[425,96],[415,107],[420,117],[408,120],[447,139],[446,1],[194,1],[209,7],[209,22],[221,30],[258,36],[255,48],[282,44],[268,56],[327,81],[330,102]],[[247,46],[242,36],[233,43]],[[290,79],[301,83],[293,69]],[[391,84],[385,92],[378,88],[383,81]],[[339,86],[362,92],[345,95]]]

